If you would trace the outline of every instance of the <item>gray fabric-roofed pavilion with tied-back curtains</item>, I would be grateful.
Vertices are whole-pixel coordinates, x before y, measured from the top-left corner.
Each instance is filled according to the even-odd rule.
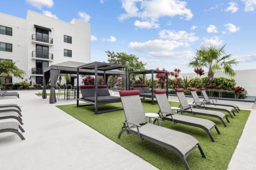
[[[55,103],[57,100],[56,100],[56,94],[55,94],[54,86],[57,83],[57,79],[59,77],[59,74],[60,73],[77,74],[77,67],[79,67],[81,65],[86,65],[86,64],[88,64],[88,63],[76,62],[76,61],[65,61],[65,62],[61,62],[61,63],[58,63],[58,64],[52,64],[49,67],[45,68],[44,69],[44,75],[43,75],[42,98],[47,98],[46,86],[48,84],[48,81],[51,80],[51,90],[50,90],[49,103]],[[97,72],[98,72],[99,75],[105,75],[105,76],[106,75],[116,75],[116,74],[125,75],[124,71],[116,70],[116,69],[115,70],[108,70],[108,71],[98,70]],[[79,68],[79,74],[81,74],[81,75],[94,75],[95,71],[94,71],[94,69]],[[77,84],[79,84],[79,74],[77,75]]]

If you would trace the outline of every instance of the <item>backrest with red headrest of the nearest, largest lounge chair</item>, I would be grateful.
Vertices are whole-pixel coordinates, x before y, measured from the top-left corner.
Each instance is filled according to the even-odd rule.
[[[122,107],[127,122],[141,124],[147,122],[145,112],[140,99],[139,90],[119,91],[122,100]],[[129,124],[129,127],[133,124]]]

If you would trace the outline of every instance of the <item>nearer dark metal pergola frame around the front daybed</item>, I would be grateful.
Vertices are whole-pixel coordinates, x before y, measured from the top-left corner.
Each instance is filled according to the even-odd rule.
[[[77,101],[76,101],[76,105],[77,106],[87,106],[87,105],[95,105],[95,114],[98,114],[98,113],[105,113],[105,112],[110,112],[110,111],[116,111],[116,110],[121,110],[123,108],[115,108],[115,109],[108,109],[108,110],[103,110],[103,111],[98,111],[98,105],[99,104],[106,104],[106,103],[113,103],[113,102],[116,102],[116,101],[108,101],[108,102],[98,102],[98,96],[97,96],[97,93],[98,93],[98,73],[99,71],[100,72],[103,72],[103,79],[104,79],[104,84],[106,85],[106,75],[117,75],[117,74],[120,74],[120,72],[111,72],[111,73],[106,73],[106,71],[109,72],[109,70],[114,70],[114,69],[120,69],[120,68],[125,68],[125,78],[124,78],[124,89],[127,89],[127,82],[128,82],[128,78],[127,78],[127,75],[128,75],[128,67],[126,65],[119,65],[119,64],[112,64],[112,63],[107,63],[107,62],[98,62],[98,61],[94,61],[94,62],[91,62],[91,63],[87,63],[87,64],[84,64],[84,65],[81,65],[81,66],[78,66],[77,67],[77,77],[79,76],[79,72],[80,70],[93,70],[93,74],[94,75],[94,81],[95,81],[95,99],[94,99],[94,102],[92,101],[87,101],[87,100],[84,100],[82,98],[79,98],[79,78],[77,78]],[[100,73],[102,74],[102,73]],[[85,101],[85,102],[88,102],[90,104],[83,104],[83,105],[79,105],[79,100],[80,101]]]

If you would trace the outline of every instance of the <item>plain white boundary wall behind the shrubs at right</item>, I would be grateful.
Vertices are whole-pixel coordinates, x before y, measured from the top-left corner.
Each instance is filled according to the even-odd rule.
[[[250,96],[256,96],[256,69],[245,69],[245,70],[235,70],[236,75],[232,77],[235,79],[237,86],[242,86],[246,89],[247,95]],[[208,72],[205,72],[205,74],[201,77],[207,76]],[[194,73],[180,73],[180,77],[197,77],[197,74]],[[231,78],[227,75],[225,75],[223,72],[215,72],[214,77],[226,77]]]

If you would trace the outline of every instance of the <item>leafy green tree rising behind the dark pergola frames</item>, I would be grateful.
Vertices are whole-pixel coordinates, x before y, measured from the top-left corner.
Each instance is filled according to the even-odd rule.
[[[125,52],[116,52],[115,54],[114,51],[109,50],[106,53],[109,63],[127,65],[128,71],[145,70],[146,63],[139,61],[139,58],[134,54],[128,55]],[[133,74],[132,80],[135,81],[135,74]]]

